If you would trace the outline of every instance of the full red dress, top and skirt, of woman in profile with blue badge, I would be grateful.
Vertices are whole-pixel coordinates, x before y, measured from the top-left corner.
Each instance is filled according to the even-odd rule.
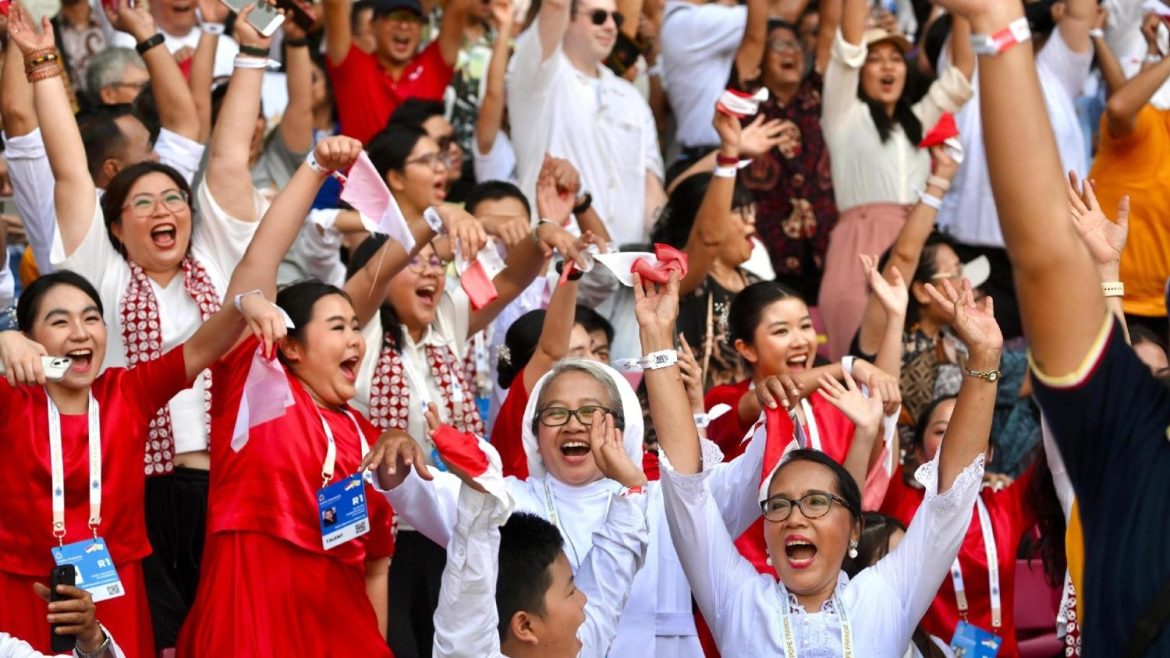
[[[213,368],[207,546],[199,595],[179,633],[179,656],[387,658],[366,596],[365,562],[392,553],[390,506],[366,485],[370,532],[330,550],[321,541],[322,418],[337,445],[336,482],[362,460],[349,416],[319,409],[289,373],[295,404],[283,417],[253,427],[239,452],[230,446],[256,345],[254,338],[245,341]],[[373,444],[378,430],[353,417]]]

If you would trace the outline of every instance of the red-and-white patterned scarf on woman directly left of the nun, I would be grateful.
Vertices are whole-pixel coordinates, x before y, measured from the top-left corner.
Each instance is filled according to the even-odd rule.
[[[483,436],[483,420],[475,406],[475,388],[464,363],[455,358],[447,345],[425,345],[431,377],[442,392],[436,400],[446,409],[446,421],[460,432]],[[424,384],[425,385],[425,384]],[[462,400],[455,402],[455,390]],[[380,430],[406,430],[410,418],[411,382],[406,376],[402,355],[393,348],[390,337],[383,340],[373,381],[370,383],[370,421]],[[457,407],[456,407],[457,406]]]

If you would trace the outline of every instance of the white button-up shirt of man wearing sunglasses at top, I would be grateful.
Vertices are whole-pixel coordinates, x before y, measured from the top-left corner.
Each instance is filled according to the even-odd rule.
[[[519,187],[536,205],[544,155],[567,158],[618,245],[645,242],[646,177],[662,179],[658,128],[638,90],[599,67],[591,77],[558,44],[541,61],[539,25],[516,42],[508,76],[508,110]]]

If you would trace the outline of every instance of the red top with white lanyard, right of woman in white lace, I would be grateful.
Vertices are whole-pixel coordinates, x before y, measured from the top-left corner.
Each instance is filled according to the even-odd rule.
[[[998,635],[1004,638],[999,656],[1016,658],[1019,649],[1016,642],[1016,554],[1020,540],[1035,525],[1035,515],[1030,509],[1025,496],[1032,481],[1034,468],[1028,468],[1011,486],[999,492],[983,489],[979,496],[987,506],[991,526],[996,534],[996,553],[999,557],[999,589],[1003,598],[1003,626]],[[909,525],[922,505],[925,492],[906,484],[903,478],[893,478],[882,514],[893,516]],[[959,564],[963,567],[963,584],[970,605],[968,622],[985,629],[991,629],[991,594],[987,581],[987,555],[983,546],[983,528],[979,525],[978,509],[971,509],[971,525],[963,536],[963,546],[958,551]],[[950,576],[943,580],[938,594],[930,604],[930,610],[922,618],[922,628],[930,635],[949,639],[955,635],[958,624],[958,603],[955,601],[955,584]]]

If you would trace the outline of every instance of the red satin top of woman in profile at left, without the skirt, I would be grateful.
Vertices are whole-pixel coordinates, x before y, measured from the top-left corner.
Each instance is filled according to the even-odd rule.
[[[333,480],[352,474],[362,462],[362,443],[350,417],[318,407],[301,381],[285,369],[292,389],[292,406],[284,416],[253,427],[239,452],[232,432],[257,342],[248,338],[212,368],[212,471],[207,503],[207,532],[263,533],[300,548],[355,566],[393,553],[391,509],[386,499],[366,485],[370,532],[328,551],[321,543],[317,491],[328,439],[321,424],[329,423],[337,445]],[[347,409],[347,407],[346,407]],[[360,413],[349,410],[372,446],[380,432]]]

